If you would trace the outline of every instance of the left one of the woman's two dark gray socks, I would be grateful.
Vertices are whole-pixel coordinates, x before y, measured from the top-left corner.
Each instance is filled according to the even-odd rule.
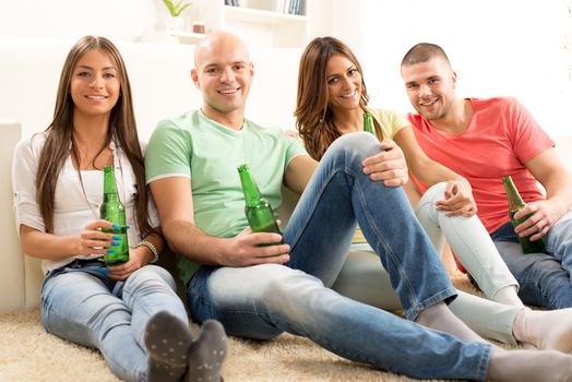
[[[192,344],[189,324],[169,312],[153,315],[145,327],[148,382],[180,381],[187,371]]]

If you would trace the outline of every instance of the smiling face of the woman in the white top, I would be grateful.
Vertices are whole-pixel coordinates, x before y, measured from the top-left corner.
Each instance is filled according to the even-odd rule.
[[[87,50],[73,68],[70,95],[74,112],[84,116],[106,116],[119,99],[121,85],[118,69],[100,49]]]

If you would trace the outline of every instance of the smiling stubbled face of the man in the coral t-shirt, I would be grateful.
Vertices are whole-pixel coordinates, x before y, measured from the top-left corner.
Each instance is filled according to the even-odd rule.
[[[426,62],[403,65],[402,77],[418,114],[429,121],[450,115],[456,99],[456,74],[443,58],[437,56]]]

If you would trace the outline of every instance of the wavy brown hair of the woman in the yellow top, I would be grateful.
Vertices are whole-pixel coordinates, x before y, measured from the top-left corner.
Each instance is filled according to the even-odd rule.
[[[361,65],[347,45],[335,37],[317,37],[308,44],[300,58],[298,95],[296,99],[296,127],[311,157],[320,160],[327,147],[342,135],[327,107],[326,65],[332,56],[342,55],[356,65]],[[366,110],[369,102],[364,76],[359,106]]]

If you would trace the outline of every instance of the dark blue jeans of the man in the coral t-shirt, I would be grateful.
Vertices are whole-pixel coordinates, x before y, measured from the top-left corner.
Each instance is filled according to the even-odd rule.
[[[519,296],[524,303],[547,309],[572,307],[572,211],[568,211],[545,237],[548,253],[524,254],[510,222],[491,237],[521,285]]]

